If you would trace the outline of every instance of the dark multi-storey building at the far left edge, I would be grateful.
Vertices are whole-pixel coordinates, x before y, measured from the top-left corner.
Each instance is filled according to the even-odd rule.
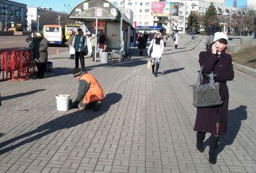
[[[22,24],[22,30],[26,30],[27,5],[7,0],[0,0],[0,4],[0,30],[8,30],[15,24]]]

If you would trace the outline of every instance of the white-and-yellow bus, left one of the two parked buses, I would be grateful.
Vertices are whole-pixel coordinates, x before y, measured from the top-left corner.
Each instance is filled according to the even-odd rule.
[[[64,29],[60,25],[48,24],[43,27],[44,37],[49,45],[65,46]]]

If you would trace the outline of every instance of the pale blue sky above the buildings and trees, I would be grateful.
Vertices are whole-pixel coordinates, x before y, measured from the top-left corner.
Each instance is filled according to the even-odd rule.
[[[82,0],[14,0],[15,2],[27,4],[27,7],[49,7],[54,11],[69,13],[68,9],[73,9],[75,5],[82,2]],[[237,0],[237,7],[245,7],[247,0]],[[66,5],[66,7],[65,7]],[[226,5],[232,7],[233,0],[226,0]]]

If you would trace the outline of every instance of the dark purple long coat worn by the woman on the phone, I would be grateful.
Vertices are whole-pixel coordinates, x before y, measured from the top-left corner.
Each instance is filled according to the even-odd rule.
[[[226,132],[226,121],[228,119],[228,103],[229,90],[226,81],[231,81],[234,78],[234,70],[232,65],[232,58],[230,54],[222,52],[220,55],[212,54],[212,50],[200,52],[199,54],[200,66],[203,65],[203,72],[217,74],[216,82],[219,82],[219,94],[223,101],[221,106],[197,108],[194,131],[210,132],[217,135],[216,118],[219,114],[219,135]],[[202,84],[208,83],[203,78]]]

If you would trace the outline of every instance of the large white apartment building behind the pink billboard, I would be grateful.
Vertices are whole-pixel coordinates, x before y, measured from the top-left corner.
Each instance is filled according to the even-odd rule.
[[[248,0],[249,1],[249,0]],[[254,0],[251,0],[254,1]],[[211,2],[214,2],[217,13],[220,18],[230,18],[232,15],[241,11],[239,8],[225,6],[225,0],[202,0],[202,1],[189,1],[189,0],[109,0],[115,7],[121,9],[130,9],[133,11],[133,27],[145,29],[157,29],[166,28],[166,32],[170,33],[175,27],[173,24],[178,25],[178,30],[183,30],[185,22],[190,15],[191,11],[197,11],[200,15],[204,15],[210,6]],[[156,16],[152,15],[152,3],[178,3],[178,16]],[[185,15],[185,17],[184,17]],[[170,22],[170,19],[175,22]],[[184,22],[185,20],[185,22]]]

